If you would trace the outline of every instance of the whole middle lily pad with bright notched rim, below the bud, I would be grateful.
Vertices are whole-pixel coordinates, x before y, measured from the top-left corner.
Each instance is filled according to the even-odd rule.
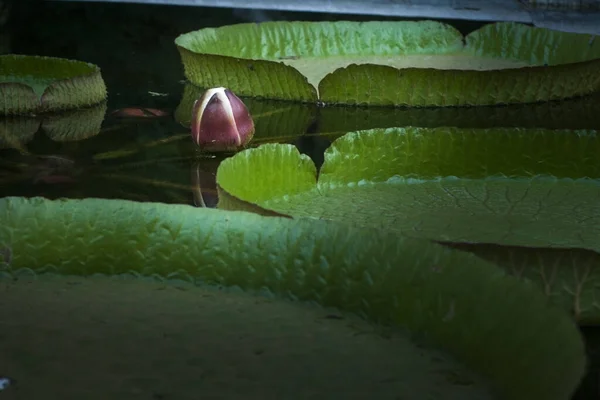
[[[219,206],[437,242],[600,252],[598,151],[595,131],[372,130],[336,140],[317,179],[311,160],[293,147],[264,145],[221,164]],[[550,294],[570,311],[586,302],[578,308],[587,314],[576,317],[600,322],[595,281],[581,296],[577,271],[565,276]]]

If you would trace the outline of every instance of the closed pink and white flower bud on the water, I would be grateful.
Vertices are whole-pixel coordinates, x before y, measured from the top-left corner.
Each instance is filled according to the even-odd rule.
[[[207,90],[194,102],[192,138],[202,150],[235,151],[254,136],[246,105],[223,87]]]

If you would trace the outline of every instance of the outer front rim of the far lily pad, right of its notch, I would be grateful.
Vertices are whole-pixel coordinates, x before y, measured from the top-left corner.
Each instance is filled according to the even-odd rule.
[[[600,60],[473,71],[350,65],[319,83],[325,104],[467,106],[534,103],[600,90]],[[352,84],[349,84],[352,82]]]

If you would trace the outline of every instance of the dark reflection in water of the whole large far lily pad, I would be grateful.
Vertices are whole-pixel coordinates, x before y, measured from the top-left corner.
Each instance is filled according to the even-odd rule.
[[[194,101],[204,91],[189,82],[185,84],[175,110],[175,119],[181,125],[189,127]],[[564,101],[502,107],[317,107],[253,97],[244,97],[243,101],[256,124],[253,145],[286,142],[308,128],[330,138],[355,130],[399,126],[600,129],[600,92]]]

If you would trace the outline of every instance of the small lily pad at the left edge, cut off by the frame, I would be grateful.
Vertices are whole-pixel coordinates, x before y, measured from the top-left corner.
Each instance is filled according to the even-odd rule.
[[[2,115],[62,111],[106,100],[100,68],[54,57],[0,56]]]

